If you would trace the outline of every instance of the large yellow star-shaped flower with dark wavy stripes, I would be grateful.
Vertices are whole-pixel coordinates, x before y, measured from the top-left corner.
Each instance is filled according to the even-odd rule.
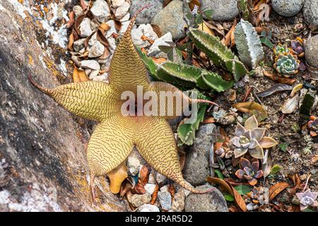
[[[137,85],[142,85],[145,91],[151,90],[156,93],[160,91],[179,92],[182,98],[189,100],[189,97],[173,85],[148,80],[146,66],[141,61],[131,40],[131,29],[138,13],[131,19],[131,23],[112,57],[110,84],[86,81],[48,89],[37,85],[32,78],[30,81],[69,112],[100,122],[90,138],[87,149],[93,199],[95,198],[93,187],[95,176],[105,175],[118,167],[126,160],[134,146],[151,167],[189,191],[194,193],[211,191],[211,189],[196,190],[182,177],[177,145],[166,121],[166,119],[176,117],[175,115],[169,117],[144,115],[124,117],[122,115],[121,107],[124,100],[121,100],[121,95],[127,90],[136,94]],[[205,100],[195,101],[207,102]],[[174,100],[168,103],[167,108],[175,107],[175,105]]]

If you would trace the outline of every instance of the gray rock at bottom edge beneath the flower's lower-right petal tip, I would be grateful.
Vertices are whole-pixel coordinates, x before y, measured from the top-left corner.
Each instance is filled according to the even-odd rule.
[[[199,189],[206,189],[210,185],[199,186]],[[215,189],[207,194],[189,194],[185,200],[185,212],[228,212],[223,194]]]

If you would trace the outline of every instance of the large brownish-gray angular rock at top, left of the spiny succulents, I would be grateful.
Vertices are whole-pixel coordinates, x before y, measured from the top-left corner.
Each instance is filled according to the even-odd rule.
[[[170,32],[173,40],[184,37],[184,26],[186,23],[183,20],[184,7],[182,1],[173,0],[157,13],[151,22],[152,25],[158,25],[162,35]]]

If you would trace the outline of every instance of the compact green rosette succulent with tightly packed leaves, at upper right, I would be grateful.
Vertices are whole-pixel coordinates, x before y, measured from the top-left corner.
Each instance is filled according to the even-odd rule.
[[[293,54],[279,55],[276,63],[273,65],[278,73],[283,74],[285,77],[298,73],[300,61],[297,56]]]

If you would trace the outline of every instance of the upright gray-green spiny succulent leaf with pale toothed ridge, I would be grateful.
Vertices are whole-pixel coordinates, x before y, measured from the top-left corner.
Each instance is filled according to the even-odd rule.
[[[264,51],[261,40],[252,24],[241,19],[234,30],[235,44],[240,54],[240,60],[250,69],[255,69],[264,59]]]

